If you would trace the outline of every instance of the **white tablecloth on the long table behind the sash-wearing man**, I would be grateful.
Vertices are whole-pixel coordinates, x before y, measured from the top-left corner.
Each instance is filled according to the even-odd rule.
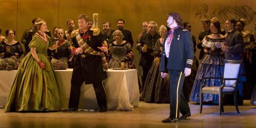
[[[70,81],[73,69],[55,70],[59,89],[61,108],[68,107]],[[0,71],[0,107],[7,102],[17,70]],[[139,105],[139,86],[136,69],[107,71],[104,81],[109,110],[132,110]],[[81,87],[79,109],[99,109],[92,84]]]

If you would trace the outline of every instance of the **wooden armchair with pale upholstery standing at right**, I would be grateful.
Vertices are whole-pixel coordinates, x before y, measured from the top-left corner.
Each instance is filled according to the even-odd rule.
[[[223,96],[226,94],[234,95],[234,102],[236,111],[239,114],[237,106],[237,83],[238,83],[238,73],[241,67],[242,60],[224,60],[224,74],[222,77],[203,77],[204,84],[201,86],[200,90],[200,113],[202,113],[203,108],[203,94],[219,94],[219,110],[224,112],[223,108]],[[205,86],[205,81],[210,81],[211,79],[221,79],[221,86]]]

